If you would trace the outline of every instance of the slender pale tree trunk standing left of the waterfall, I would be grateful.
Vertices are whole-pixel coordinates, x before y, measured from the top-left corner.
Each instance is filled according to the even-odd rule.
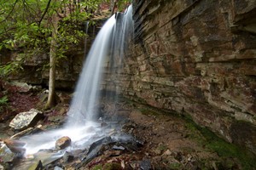
[[[45,109],[49,109],[56,104],[55,98],[55,67],[56,67],[56,54],[57,54],[57,29],[58,18],[56,15],[52,17],[52,39],[50,42],[49,50],[49,94]]]

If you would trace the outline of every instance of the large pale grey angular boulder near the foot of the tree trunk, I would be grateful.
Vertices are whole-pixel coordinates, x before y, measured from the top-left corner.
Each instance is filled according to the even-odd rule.
[[[27,127],[32,127],[43,117],[41,111],[31,109],[30,111],[21,112],[9,123],[9,127],[14,127],[15,130],[24,130]]]

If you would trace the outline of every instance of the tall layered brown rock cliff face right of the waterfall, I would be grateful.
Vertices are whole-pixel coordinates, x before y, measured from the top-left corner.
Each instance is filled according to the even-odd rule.
[[[133,5],[135,43],[116,82],[119,92],[188,115],[256,154],[255,1]]]

